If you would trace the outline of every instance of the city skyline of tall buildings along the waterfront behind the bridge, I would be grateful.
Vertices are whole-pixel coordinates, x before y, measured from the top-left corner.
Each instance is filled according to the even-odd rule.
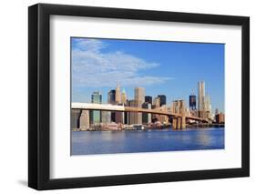
[[[107,103],[103,103],[103,95],[108,95]],[[135,87],[134,97],[128,99],[125,88],[117,85],[115,89],[108,91],[108,94],[101,94],[100,91],[93,92],[90,103],[133,108],[132,111],[72,108],[71,129],[124,130],[169,128],[170,126],[173,129],[183,129],[194,126],[201,128],[224,126],[225,115],[219,112],[218,108],[212,111],[210,96],[206,95],[204,81],[198,82],[198,95],[192,92],[188,96],[188,105],[186,101],[186,99],[176,99],[168,105],[165,94],[159,94],[157,97],[148,96],[145,87]],[[152,113],[148,113],[150,111],[145,109]],[[175,115],[180,117],[174,117]]]

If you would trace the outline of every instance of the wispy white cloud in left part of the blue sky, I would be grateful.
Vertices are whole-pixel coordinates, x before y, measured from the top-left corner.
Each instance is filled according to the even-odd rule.
[[[158,67],[137,56],[126,53],[107,52],[102,41],[96,39],[77,39],[72,50],[73,87],[145,87],[162,84],[171,77],[153,77],[140,73],[139,70]]]

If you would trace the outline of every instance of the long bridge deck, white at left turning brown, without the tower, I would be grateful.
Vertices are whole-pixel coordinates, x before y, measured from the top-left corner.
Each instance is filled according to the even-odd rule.
[[[106,110],[106,111],[119,111],[119,112],[138,112],[138,113],[150,113],[156,115],[165,115],[169,117],[186,117],[191,120],[199,120],[202,122],[208,122],[207,119],[201,117],[192,117],[192,116],[182,116],[180,114],[171,113],[168,111],[163,111],[160,109],[146,109],[140,107],[125,107],[119,105],[110,105],[110,104],[94,104],[94,103],[79,103],[72,102],[72,109],[87,109],[87,110]]]

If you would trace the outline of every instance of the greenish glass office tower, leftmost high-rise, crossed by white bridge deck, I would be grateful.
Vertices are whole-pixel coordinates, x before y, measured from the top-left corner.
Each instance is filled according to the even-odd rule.
[[[91,96],[91,102],[96,103],[96,104],[101,104],[102,103],[102,96],[99,93],[99,91],[93,92],[93,94]],[[101,122],[101,117],[100,117],[100,111],[99,110],[92,110],[90,112],[90,122],[92,124],[98,124],[98,123]]]

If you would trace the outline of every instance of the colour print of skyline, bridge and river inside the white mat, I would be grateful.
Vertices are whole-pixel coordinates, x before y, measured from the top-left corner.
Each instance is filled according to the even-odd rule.
[[[70,45],[70,155],[225,148],[225,44]]]

